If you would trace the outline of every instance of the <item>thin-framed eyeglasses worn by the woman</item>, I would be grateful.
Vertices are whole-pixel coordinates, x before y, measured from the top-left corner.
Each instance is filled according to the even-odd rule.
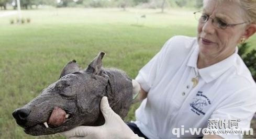
[[[202,13],[202,11],[196,11],[193,14],[195,15],[195,19],[198,20],[199,22],[207,22],[210,18],[207,14]],[[212,19],[212,23],[215,27],[221,28],[221,29],[226,29],[227,27],[233,27],[236,25],[247,23],[247,22],[241,22],[238,24],[227,24],[227,22],[223,21],[220,18],[210,18],[210,19]]]

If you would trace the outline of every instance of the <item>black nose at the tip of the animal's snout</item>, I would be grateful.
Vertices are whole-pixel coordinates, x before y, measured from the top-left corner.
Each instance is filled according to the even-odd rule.
[[[16,119],[18,124],[23,125],[26,123],[29,113],[29,109],[21,108],[13,112],[13,117]]]

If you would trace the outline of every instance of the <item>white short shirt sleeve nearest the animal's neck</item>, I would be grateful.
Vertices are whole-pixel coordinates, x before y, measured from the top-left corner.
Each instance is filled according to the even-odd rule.
[[[168,51],[168,46],[171,43],[171,39],[169,39],[162,47],[162,49],[145,65],[143,66],[135,80],[140,84],[141,88],[149,92],[152,87],[155,77],[158,74],[159,68],[161,66],[161,62],[163,61],[166,52]]]

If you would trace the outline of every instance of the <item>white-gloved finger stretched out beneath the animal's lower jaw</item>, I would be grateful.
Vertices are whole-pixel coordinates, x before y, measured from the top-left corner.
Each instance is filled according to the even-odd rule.
[[[97,133],[98,126],[77,126],[76,128],[62,132],[61,134],[65,135],[66,137],[74,137],[74,136],[87,136],[90,134]]]

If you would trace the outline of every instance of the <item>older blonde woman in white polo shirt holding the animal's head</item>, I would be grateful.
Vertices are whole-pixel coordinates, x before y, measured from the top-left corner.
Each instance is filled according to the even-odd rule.
[[[256,32],[256,1],[205,0],[203,10],[194,14],[199,21],[197,38],[171,38],[136,77],[143,101],[136,121],[128,123],[130,129],[103,97],[104,125],[79,126],[64,134],[74,138],[241,138],[242,134],[205,135],[199,129],[250,126],[256,111],[256,84],[236,46]]]

